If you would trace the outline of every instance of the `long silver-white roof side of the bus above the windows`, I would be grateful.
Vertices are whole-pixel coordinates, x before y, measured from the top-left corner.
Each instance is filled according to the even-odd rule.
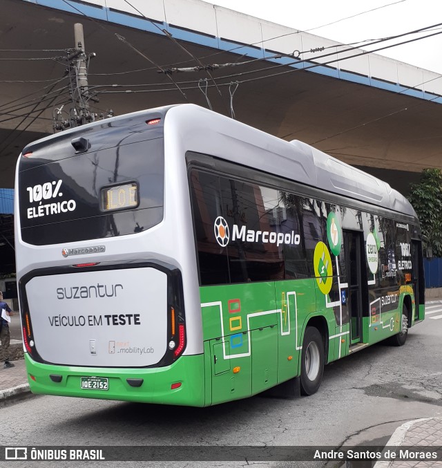
[[[386,182],[298,140],[286,142],[194,104],[175,106],[166,113],[166,138],[169,125],[182,135],[186,151],[207,153],[416,216],[407,199]]]

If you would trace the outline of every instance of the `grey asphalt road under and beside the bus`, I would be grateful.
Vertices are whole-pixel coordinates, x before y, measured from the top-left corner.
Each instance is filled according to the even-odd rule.
[[[410,330],[405,346],[377,344],[327,366],[320,390],[311,397],[256,396],[206,409],[32,397],[0,409],[0,442],[16,447],[385,444],[407,420],[442,416],[442,304],[428,311],[432,313],[427,319]],[[46,466],[45,462],[34,465]],[[122,465],[320,467],[324,463],[105,461],[87,466]],[[58,466],[80,465],[59,462]]]

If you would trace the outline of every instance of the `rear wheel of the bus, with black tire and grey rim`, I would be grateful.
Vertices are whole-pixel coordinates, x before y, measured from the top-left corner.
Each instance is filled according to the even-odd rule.
[[[324,373],[324,342],[317,328],[305,329],[301,353],[300,387],[302,395],[313,395],[319,389]]]

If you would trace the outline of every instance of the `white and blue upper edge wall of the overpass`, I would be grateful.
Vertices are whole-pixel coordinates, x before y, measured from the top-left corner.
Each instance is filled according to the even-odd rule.
[[[53,0],[26,1],[54,8]],[[162,34],[160,29],[165,28],[172,32],[175,39],[184,39],[195,44],[218,47],[221,50],[230,50],[235,43],[240,43],[243,46],[244,44],[251,44],[253,48],[261,49],[258,54],[260,57],[273,55],[265,53],[265,49],[287,55],[294,53],[294,50],[306,51],[302,54],[302,59],[312,60],[317,63],[335,61],[329,64],[327,68],[313,68],[312,71],[316,73],[423,99],[434,98],[434,95],[428,96],[425,93],[442,95],[442,82],[440,79],[436,79],[439,77],[437,73],[374,53],[345,59],[364,51],[354,49],[343,52],[345,46],[340,42],[200,0],[132,0],[131,2],[125,0],[82,0],[81,3],[99,7],[90,8],[90,11],[88,11],[88,15],[93,17],[117,24],[125,24],[133,28],[146,27],[146,30],[157,34]],[[56,8],[79,15],[75,8],[70,8],[62,1],[57,2]],[[147,24],[148,21],[142,15],[148,19],[160,21],[163,25],[159,25],[160,29],[155,28],[152,24]],[[146,21],[146,25],[143,25],[140,21]],[[294,23],[296,24],[296,20],[294,20]],[[204,35],[206,36],[205,39]],[[323,47],[327,53],[336,53],[336,55],[317,58],[318,55],[323,55],[325,52],[309,52],[309,50]],[[253,54],[253,48],[250,48],[251,50],[247,52],[247,55],[251,57],[256,55]],[[242,55],[244,47],[238,48],[238,53]],[[280,59],[272,61],[285,63],[284,61],[281,62]],[[289,62],[293,62],[293,60],[291,59]],[[300,68],[309,65],[308,63],[300,64]],[[407,86],[411,86],[413,89],[405,89]],[[439,102],[439,99],[437,102]]]

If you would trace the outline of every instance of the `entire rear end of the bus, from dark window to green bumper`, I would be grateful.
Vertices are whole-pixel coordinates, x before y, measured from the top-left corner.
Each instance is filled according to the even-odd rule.
[[[17,281],[34,393],[204,405],[202,350],[191,345],[198,324],[186,317],[186,261],[176,254],[188,250],[186,235],[171,238],[164,203],[167,110],[21,153]],[[182,195],[171,194],[171,206],[173,197]]]

